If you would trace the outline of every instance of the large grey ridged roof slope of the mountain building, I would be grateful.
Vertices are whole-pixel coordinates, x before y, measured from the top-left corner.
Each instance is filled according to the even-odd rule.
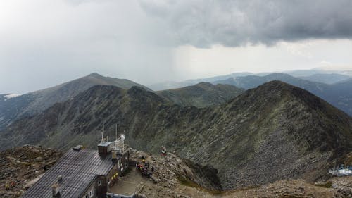
[[[61,197],[80,197],[91,185],[96,175],[107,175],[113,165],[111,154],[102,157],[96,150],[74,151],[70,149],[23,194],[23,198],[51,198],[51,186],[58,182],[58,175],[62,176],[59,183]]]

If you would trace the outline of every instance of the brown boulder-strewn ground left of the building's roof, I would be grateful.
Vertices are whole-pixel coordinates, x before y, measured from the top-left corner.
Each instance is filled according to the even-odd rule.
[[[25,146],[0,153],[0,197],[20,197],[27,188],[60,159],[54,149]],[[6,185],[9,189],[6,190]]]

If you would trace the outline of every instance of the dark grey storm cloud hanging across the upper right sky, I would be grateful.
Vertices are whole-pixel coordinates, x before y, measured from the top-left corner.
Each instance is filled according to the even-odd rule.
[[[175,45],[239,46],[351,39],[352,1],[139,1],[167,21]]]

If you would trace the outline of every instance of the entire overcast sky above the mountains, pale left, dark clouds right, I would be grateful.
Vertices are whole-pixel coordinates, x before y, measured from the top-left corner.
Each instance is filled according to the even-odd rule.
[[[0,93],[89,73],[144,85],[352,70],[352,1],[1,0]]]

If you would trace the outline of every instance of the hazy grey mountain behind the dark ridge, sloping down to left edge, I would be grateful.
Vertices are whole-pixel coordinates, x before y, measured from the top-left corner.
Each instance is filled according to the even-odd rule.
[[[49,106],[57,102],[67,101],[94,85],[113,85],[122,89],[130,89],[132,86],[144,87],[131,80],[104,77],[92,73],[48,89],[30,92],[11,99],[0,99],[0,130],[18,118],[40,113]]]

